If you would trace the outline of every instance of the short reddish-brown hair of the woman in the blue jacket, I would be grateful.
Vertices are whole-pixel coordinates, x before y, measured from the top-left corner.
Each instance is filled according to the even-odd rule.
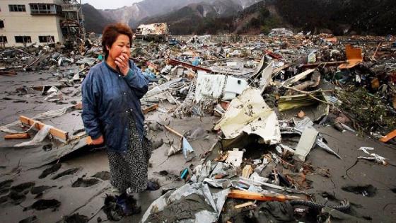
[[[133,33],[128,25],[125,25],[123,23],[115,23],[115,24],[107,25],[103,29],[102,47],[103,47],[103,53],[105,53],[106,56],[109,54],[109,51],[106,49],[106,46],[110,48],[112,44],[115,42],[115,40],[117,40],[117,37],[121,34],[127,35],[129,37],[129,43],[132,45]]]

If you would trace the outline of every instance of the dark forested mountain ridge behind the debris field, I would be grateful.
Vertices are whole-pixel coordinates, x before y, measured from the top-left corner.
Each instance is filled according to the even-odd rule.
[[[173,35],[266,34],[272,28],[281,27],[291,28],[296,32],[304,30],[334,35],[396,34],[396,4],[392,3],[394,0],[187,0],[186,4],[175,6],[179,1],[181,0],[168,0],[165,8],[172,9],[165,13],[158,9],[163,7],[152,7],[156,9],[151,8],[151,11],[143,7],[152,6],[159,0],[145,0],[141,4],[134,4],[135,10],[140,13],[134,16],[141,17],[139,21],[130,18],[130,11],[127,9],[132,6],[118,8],[120,12],[94,11],[90,8],[88,11],[84,10],[87,30],[100,30],[109,21],[118,21],[129,23],[132,28],[141,23],[166,22]],[[99,15],[91,16],[90,13]],[[107,16],[109,13],[117,14],[118,19]],[[160,14],[144,16],[150,13]],[[88,22],[91,17],[95,19]],[[97,24],[98,21],[100,24]],[[92,25],[95,28],[91,28]]]

